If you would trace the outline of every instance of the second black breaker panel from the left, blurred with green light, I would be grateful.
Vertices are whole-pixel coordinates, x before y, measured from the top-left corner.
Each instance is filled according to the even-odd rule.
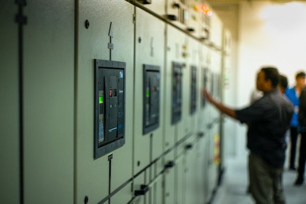
[[[160,68],[144,64],[143,85],[143,134],[159,126]]]

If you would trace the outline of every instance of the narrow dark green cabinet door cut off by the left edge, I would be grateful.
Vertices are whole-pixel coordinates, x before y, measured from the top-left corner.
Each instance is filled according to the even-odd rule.
[[[18,5],[5,0],[0,6],[0,161],[1,202],[20,203],[20,89],[18,56]],[[5,166],[5,168],[3,168]],[[5,190],[4,190],[5,188]]]

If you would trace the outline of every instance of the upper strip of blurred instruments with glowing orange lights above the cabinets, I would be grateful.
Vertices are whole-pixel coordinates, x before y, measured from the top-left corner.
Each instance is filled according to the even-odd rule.
[[[201,41],[221,47],[222,23],[206,0],[136,0],[131,3],[158,15]]]

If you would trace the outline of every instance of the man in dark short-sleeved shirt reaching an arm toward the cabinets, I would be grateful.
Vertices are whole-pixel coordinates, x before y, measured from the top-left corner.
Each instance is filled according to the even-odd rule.
[[[256,204],[284,204],[281,192],[281,173],[285,157],[285,132],[288,130],[293,105],[277,89],[279,73],[274,67],[260,70],[256,86],[263,97],[247,108],[234,110],[215,101],[204,89],[206,99],[222,113],[248,123],[250,191]]]

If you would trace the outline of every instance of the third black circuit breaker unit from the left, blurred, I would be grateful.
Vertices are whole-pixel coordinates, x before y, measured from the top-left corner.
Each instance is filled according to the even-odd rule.
[[[182,117],[182,65],[172,62],[172,124]]]

